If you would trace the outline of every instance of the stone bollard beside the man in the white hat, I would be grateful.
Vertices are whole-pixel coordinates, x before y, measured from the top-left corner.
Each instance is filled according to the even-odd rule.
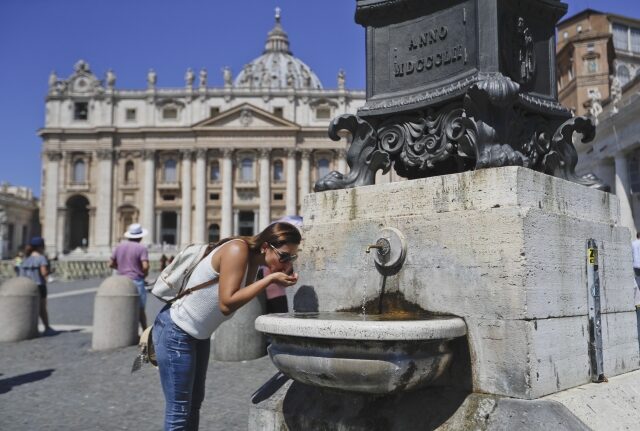
[[[102,282],[93,309],[93,350],[138,344],[139,301],[128,277],[112,275]]]

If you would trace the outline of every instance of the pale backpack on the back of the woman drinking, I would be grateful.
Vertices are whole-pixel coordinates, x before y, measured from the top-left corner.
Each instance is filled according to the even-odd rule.
[[[216,244],[190,244],[180,250],[173,261],[162,270],[151,293],[158,299],[172,303],[193,291],[211,286],[216,279],[184,289],[193,270],[214,248]]]

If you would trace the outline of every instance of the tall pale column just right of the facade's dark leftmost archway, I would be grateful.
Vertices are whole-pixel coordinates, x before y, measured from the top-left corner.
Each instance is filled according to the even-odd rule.
[[[113,202],[113,150],[98,150],[96,155],[99,180],[96,184],[95,250],[99,254],[109,254]]]

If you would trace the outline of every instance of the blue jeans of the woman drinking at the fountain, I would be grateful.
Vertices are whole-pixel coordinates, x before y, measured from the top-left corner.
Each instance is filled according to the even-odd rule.
[[[198,340],[180,329],[164,307],[153,324],[160,382],[166,400],[165,430],[197,430],[211,340]]]

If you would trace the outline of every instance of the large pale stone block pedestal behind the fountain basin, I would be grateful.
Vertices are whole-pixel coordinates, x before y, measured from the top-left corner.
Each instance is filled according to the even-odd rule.
[[[591,381],[586,242],[599,246],[604,374],[638,369],[630,233],[612,194],[520,167],[308,195],[297,311],[379,295],[365,248],[407,238],[387,294],[468,327],[474,392],[535,399]],[[337,240],[341,238],[342,240]]]

